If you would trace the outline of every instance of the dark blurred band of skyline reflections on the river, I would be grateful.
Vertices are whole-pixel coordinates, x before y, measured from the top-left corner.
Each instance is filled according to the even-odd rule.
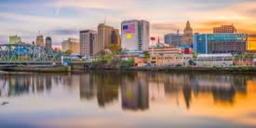
[[[234,104],[237,94],[247,95],[247,83],[256,78],[239,75],[154,72],[90,72],[84,74],[12,74],[0,77],[0,96],[51,91],[54,86],[79,89],[81,100],[96,98],[100,107],[121,101],[124,110],[146,110],[159,100],[154,91],[187,109],[193,99],[209,94],[214,103]],[[150,86],[149,86],[150,85]],[[161,85],[161,86],[160,86]],[[163,91],[159,91],[162,87]],[[120,98],[118,99],[118,95]]]

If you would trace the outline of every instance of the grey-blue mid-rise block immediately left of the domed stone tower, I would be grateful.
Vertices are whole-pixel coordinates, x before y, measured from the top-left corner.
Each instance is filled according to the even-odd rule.
[[[181,44],[182,34],[169,33],[164,35],[164,44],[179,46]]]

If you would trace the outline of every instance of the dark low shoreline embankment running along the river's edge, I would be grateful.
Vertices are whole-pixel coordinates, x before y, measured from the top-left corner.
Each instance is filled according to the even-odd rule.
[[[54,67],[1,67],[0,71],[9,72],[38,72],[38,73],[67,73],[67,72],[85,72],[85,71],[166,71],[166,72],[209,72],[209,73],[242,73],[256,74],[256,67],[131,67],[123,69],[113,68],[92,68],[81,69],[70,66]]]

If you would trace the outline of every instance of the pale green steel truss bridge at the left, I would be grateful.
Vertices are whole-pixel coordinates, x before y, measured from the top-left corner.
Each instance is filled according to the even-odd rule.
[[[2,44],[0,45],[0,64],[47,64],[61,62],[61,53],[43,46],[31,44]]]

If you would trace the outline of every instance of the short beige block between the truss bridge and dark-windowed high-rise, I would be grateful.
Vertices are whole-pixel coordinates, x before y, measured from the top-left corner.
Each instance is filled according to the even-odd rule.
[[[61,51],[67,52],[70,50],[73,54],[79,54],[80,53],[80,45],[79,40],[76,38],[69,38],[68,40],[64,40],[61,43]]]

